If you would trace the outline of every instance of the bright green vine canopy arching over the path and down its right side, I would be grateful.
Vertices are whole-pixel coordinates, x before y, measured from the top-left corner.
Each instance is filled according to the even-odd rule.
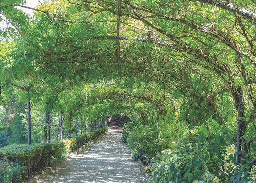
[[[16,8],[22,4],[0,3],[1,21],[9,25],[0,31],[0,101],[27,110],[23,126],[41,125],[32,126],[40,136],[33,142],[46,141],[47,132],[54,135],[49,126],[62,123],[59,115],[67,136],[81,114],[92,126],[103,116],[123,114],[134,117],[123,137],[134,158],[150,163],[175,148],[180,156],[185,139],[196,149],[204,137],[198,157],[183,154],[177,160],[173,154],[176,163],[164,166],[176,171],[192,162],[190,170],[177,172],[184,174],[182,181],[212,180],[213,174],[223,181],[219,170],[231,182],[249,180],[239,173],[256,165],[254,0],[54,0],[39,4],[32,19]],[[15,94],[18,104],[12,103]],[[16,121],[1,120],[3,133],[15,134]],[[217,172],[209,169],[207,152]],[[244,167],[231,171],[233,177],[222,167],[229,154]],[[207,162],[201,172],[195,170],[198,161]],[[156,181],[167,173],[167,180],[180,181],[156,167]]]

